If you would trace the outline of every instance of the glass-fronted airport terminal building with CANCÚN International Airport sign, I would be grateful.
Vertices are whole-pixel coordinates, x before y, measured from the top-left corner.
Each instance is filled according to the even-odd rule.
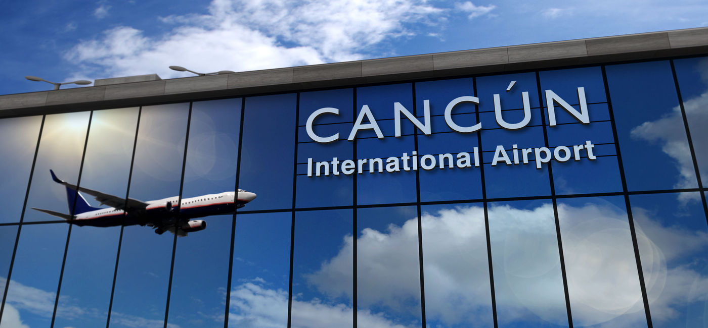
[[[0,95],[0,327],[708,327],[707,126],[708,28]]]

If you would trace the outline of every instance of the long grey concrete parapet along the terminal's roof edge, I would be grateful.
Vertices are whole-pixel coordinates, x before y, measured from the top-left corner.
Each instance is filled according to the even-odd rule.
[[[0,95],[0,117],[695,54],[708,54],[708,28],[167,80],[147,74],[99,79],[86,88]]]

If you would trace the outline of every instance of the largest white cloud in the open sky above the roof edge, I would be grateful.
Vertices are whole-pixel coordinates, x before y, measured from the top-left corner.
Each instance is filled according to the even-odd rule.
[[[119,26],[65,57],[83,76],[184,76],[170,64],[211,72],[347,61],[411,35],[409,23],[430,23],[442,13],[424,0],[213,0],[204,15],[159,18],[177,24],[164,35]]]

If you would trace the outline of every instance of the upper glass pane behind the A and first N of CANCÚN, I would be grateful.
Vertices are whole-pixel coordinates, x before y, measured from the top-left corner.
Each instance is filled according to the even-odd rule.
[[[394,102],[400,102],[409,112],[413,112],[413,95],[410,83],[387,86],[372,86],[357,89],[357,111],[363,105],[368,105],[375,117],[384,139],[377,139],[372,130],[362,130],[357,134],[357,159],[367,159],[362,165],[362,174],[357,175],[357,203],[385,204],[416,201],[416,175],[412,170],[413,159],[400,160],[404,153],[413,156],[415,148],[414,136],[394,137]],[[388,119],[388,120],[386,120]],[[365,120],[365,122],[367,122]],[[412,134],[412,123],[401,122],[404,134]],[[381,158],[384,165],[387,158],[399,158],[399,172],[370,173],[371,158]],[[404,170],[404,165],[411,168]]]

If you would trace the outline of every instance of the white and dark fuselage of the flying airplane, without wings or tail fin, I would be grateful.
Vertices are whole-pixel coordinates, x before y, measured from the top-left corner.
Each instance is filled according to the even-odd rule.
[[[238,197],[236,197],[236,192],[222,192],[184,198],[178,204],[179,197],[175,196],[145,201],[149,205],[140,211],[126,213],[121,209],[108,207],[77,214],[74,220],[68,222],[75,225],[110,227],[145,224],[154,221],[170,221],[176,218],[185,221],[203,216],[234,213],[237,208],[244,206],[253,197],[255,197],[255,194],[239,190]]]

